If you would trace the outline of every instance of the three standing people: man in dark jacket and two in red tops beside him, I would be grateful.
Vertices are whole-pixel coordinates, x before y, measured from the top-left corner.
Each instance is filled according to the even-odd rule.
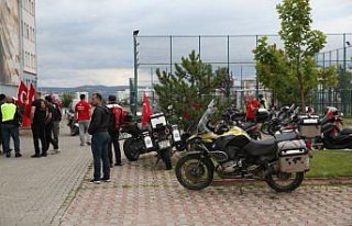
[[[122,166],[119,131],[125,111],[117,103],[116,95],[109,95],[108,103],[105,103],[100,93],[92,93],[94,111],[85,94],[80,94],[79,98],[80,101],[75,105],[75,120],[79,125],[80,146],[91,145],[94,178],[90,182],[110,182],[110,168],[113,165],[112,147],[116,156],[114,166]]]

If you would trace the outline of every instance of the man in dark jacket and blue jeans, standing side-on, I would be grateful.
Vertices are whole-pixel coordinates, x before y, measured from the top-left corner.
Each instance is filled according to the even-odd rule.
[[[109,136],[109,117],[110,110],[102,105],[102,97],[100,93],[94,93],[91,95],[91,104],[96,108],[90,125],[88,127],[88,133],[92,135],[91,137],[91,152],[94,158],[94,179],[90,180],[91,183],[110,182],[110,166],[108,157],[108,145],[110,142]],[[102,172],[103,177],[100,178],[101,162],[102,161]]]

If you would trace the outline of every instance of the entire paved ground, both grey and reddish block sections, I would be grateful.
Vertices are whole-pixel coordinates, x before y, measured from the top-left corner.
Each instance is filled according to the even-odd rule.
[[[64,126],[65,128],[65,126]],[[66,132],[67,134],[67,132]],[[0,157],[0,226],[12,225],[352,225],[352,187],[304,185],[278,194],[265,183],[188,191],[154,155],[114,167],[111,183],[89,184],[91,152],[63,135],[62,152]],[[87,172],[88,169],[88,173]],[[82,183],[81,183],[82,182]]]

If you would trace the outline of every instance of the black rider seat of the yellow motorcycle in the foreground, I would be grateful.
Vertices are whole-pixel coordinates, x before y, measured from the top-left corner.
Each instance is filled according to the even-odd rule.
[[[275,139],[251,140],[243,150],[251,156],[264,156],[274,154],[277,149]]]

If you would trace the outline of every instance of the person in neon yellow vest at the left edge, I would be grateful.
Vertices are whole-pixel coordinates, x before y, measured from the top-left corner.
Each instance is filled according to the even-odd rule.
[[[20,125],[21,113],[19,108],[14,105],[12,98],[7,97],[6,102],[1,105],[1,134],[3,140],[3,154],[7,158],[11,157],[10,137],[13,139],[15,158],[22,157],[20,151]]]

